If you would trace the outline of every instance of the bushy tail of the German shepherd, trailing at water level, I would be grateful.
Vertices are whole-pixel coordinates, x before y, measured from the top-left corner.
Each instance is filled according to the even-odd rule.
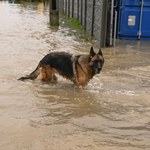
[[[40,74],[39,66],[37,66],[37,68],[33,72],[31,72],[29,75],[21,77],[18,80],[21,80],[21,81],[24,81],[24,80],[27,80],[27,79],[34,80],[38,77],[39,74]]]

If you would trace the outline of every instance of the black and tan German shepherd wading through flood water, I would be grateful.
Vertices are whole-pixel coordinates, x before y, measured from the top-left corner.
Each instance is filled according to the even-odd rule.
[[[94,75],[99,74],[104,64],[101,49],[96,54],[93,47],[89,54],[72,55],[66,52],[52,52],[47,54],[37,68],[18,80],[40,78],[42,81],[57,80],[55,74],[60,74],[78,86],[85,86]]]

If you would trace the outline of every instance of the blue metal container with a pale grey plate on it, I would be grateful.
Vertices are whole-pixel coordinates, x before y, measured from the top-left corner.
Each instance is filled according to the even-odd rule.
[[[150,0],[122,0],[118,38],[150,40]]]

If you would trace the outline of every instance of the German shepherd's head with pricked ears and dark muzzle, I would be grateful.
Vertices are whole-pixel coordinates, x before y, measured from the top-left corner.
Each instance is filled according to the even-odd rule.
[[[92,67],[95,74],[99,74],[102,70],[104,64],[104,57],[102,54],[101,49],[99,49],[98,53],[96,54],[94,52],[93,47],[90,49],[90,55],[89,55],[89,65]]]

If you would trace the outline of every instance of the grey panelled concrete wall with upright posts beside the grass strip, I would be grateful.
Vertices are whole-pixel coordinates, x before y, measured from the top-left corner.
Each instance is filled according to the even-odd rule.
[[[105,47],[105,35],[102,35],[105,32],[102,30],[106,26],[103,19],[107,7],[104,6],[104,1],[107,0],[59,0],[59,5],[61,8],[64,6],[68,17],[79,19],[85,30],[99,41],[100,47]]]

